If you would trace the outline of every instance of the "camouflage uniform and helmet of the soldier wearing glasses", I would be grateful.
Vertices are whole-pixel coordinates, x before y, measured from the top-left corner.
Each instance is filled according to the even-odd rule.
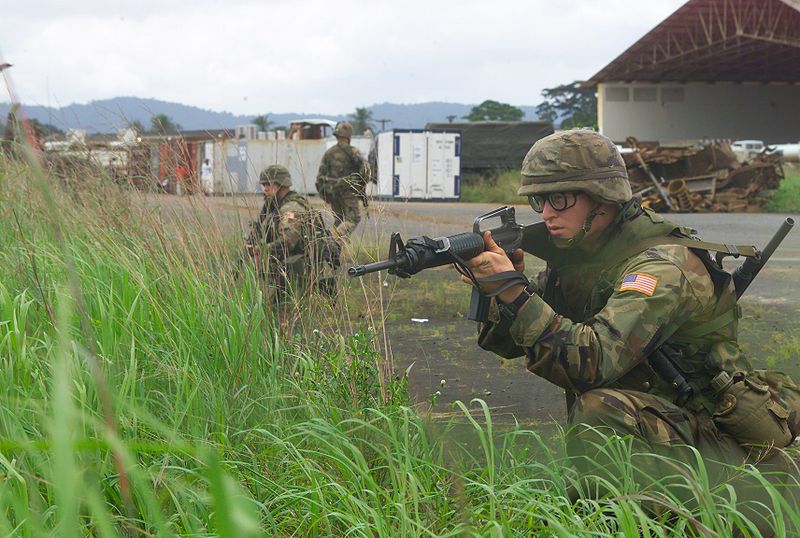
[[[786,376],[757,376],[739,348],[730,276],[707,251],[686,246],[696,242],[691,230],[631,200],[624,162],[610,140],[591,131],[551,135],[531,148],[522,173],[519,194],[582,191],[621,207],[590,245],[579,240],[556,248],[546,228],[535,226],[523,249],[547,262],[538,291],[513,320],[494,310],[479,341],[503,357],[526,356],[531,372],[566,390],[568,449],[579,470],[596,474],[611,463],[598,449],[602,430],[630,436],[641,453],[694,461],[691,446],[728,463],[752,458],[751,444],[786,446],[797,435],[796,386]],[[591,214],[587,221],[585,231]],[[649,358],[656,350],[668,353],[692,387],[687,401],[654,370]],[[712,379],[722,371],[774,389],[763,402],[766,426],[744,425],[755,440],[720,426],[729,391],[713,394]],[[769,375],[777,377],[770,382]],[[652,456],[637,467],[655,478],[675,473]]]

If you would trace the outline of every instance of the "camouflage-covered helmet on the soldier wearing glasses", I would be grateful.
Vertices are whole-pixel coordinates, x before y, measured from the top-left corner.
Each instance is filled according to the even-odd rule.
[[[537,140],[522,161],[521,196],[580,191],[610,203],[631,199],[625,161],[610,138],[584,129]]]

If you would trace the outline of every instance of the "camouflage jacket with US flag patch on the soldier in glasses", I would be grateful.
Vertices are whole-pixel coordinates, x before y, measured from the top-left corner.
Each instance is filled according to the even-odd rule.
[[[481,347],[507,358],[527,356],[531,372],[568,394],[614,387],[672,399],[670,383],[646,360],[665,344],[698,395],[708,392],[722,369],[749,371],[736,316],[713,330],[697,330],[738,312],[729,275],[706,251],[670,244],[635,248],[689,233],[629,204],[591,251],[556,249],[546,231],[538,244],[526,239],[525,250],[547,261],[540,292],[513,322],[492,312]],[[694,400],[687,407],[713,407],[700,396]]]

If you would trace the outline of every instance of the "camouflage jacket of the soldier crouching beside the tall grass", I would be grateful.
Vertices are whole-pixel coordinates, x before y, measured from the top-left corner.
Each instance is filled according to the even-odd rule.
[[[308,200],[295,191],[289,191],[280,201],[265,200],[258,221],[253,223],[261,252],[283,258],[302,254],[311,214]]]

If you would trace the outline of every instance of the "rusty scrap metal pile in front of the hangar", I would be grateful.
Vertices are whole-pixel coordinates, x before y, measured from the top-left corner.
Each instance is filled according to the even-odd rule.
[[[754,212],[783,179],[780,155],[739,162],[727,142],[659,145],[627,139],[633,192],[659,212]]]

